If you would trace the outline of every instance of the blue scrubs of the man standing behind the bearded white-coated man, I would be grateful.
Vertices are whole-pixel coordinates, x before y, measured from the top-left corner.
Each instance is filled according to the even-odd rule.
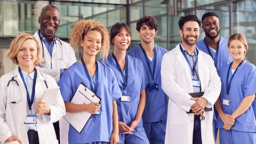
[[[204,38],[205,39],[205,38]],[[209,45],[207,43],[205,43],[204,39],[202,39],[201,41],[196,43],[196,46],[198,47],[199,50],[209,54],[209,51],[207,50],[207,46],[209,47]],[[206,46],[207,45],[207,46]],[[215,67],[217,69],[217,71],[220,70],[220,68],[224,65],[228,65],[229,63],[231,63],[233,61],[229,51],[228,51],[228,39],[221,37],[220,36],[220,42],[219,42],[219,47],[218,47],[218,55],[216,55],[217,51],[214,52],[210,47],[209,50],[211,52],[212,55],[212,59],[215,62]],[[217,116],[218,111],[214,106],[214,113],[213,113],[213,121],[212,121],[212,126],[213,126],[213,134],[214,134],[214,138],[216,140],[217,138],[217,132],[218,132],[218,128],[216,128],[216,123],[217,123]]]

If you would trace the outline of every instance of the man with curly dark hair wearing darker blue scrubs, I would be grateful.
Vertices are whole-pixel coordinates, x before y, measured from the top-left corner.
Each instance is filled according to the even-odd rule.
[[[143,127],[150,143],[164,143],[167,119],[167,98],[161,86],[161,62],[166,49],[155,44],[157,21],[145,16],[137,21],[137,33],[141,43],[127,54],[142,61],[148,75],[146,105],[143,111]]]

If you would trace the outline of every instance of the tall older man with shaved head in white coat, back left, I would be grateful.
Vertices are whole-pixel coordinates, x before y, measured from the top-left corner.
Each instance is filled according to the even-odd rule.
[[[40,45],[43,61],[39,62],[37,68],[42,73],[51,75],[58,82],[65,70],[77,61],[75,52],[70,44],[61,41],[56,36],[60,26],[60,11],[56,6],[44,6],[38,18],[38,23],[40,23],[40,29],[35,32],[34,37]],[[67,144],[69,123],[61,118],[53,125],[57,139],[62,144]]]

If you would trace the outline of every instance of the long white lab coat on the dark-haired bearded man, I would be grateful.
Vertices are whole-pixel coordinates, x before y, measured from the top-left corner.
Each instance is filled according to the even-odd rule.
[[[220,77],[212,58],[199,50],[198,74],[201,80],[203,97],[207,100],[208,108],[218,99],[221,90]],[[179,44],[175,49],[166,53],[161,68],[162,89],[169,97],[165,143],[192,144],[194,114],[187,114],[195,101],[190,100],[188,93],[193,93],[190,67],[180,51]],[[203,144],[215,143],[212,129],[213,111],[204,113],[205,120],[201,121]]]

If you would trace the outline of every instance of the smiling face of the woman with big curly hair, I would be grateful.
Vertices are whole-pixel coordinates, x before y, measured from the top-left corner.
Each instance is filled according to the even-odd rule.
[[[101,34],[97,30],[87,31],[84,39],[81,41],[83,54],[88,57],[95,57],[101,49]]]

